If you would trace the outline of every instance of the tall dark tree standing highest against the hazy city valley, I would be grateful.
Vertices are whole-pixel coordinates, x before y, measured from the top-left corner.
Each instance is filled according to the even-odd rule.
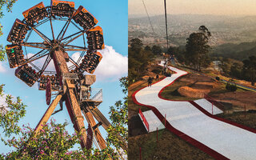
[[[209,66],[210,60],[208,45],[211,34],[206,26],[200,26],[197,33],[190,34],[186,39],[186,61],[192,63],[196,70],[201,70],[202,66]]]

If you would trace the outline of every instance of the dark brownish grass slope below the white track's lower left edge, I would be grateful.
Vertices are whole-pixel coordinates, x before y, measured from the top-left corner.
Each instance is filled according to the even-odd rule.
[[[169,130],[158,130],[149,134],[138,135],[128,140],[129,159],[139,159],[139,148],[142,149],[142,159],[214,159],[198,148],[185,142]]]

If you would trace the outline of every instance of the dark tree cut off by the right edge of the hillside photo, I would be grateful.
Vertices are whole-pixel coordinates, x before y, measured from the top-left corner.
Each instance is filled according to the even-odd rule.
[[[256,57],[250,56],[249,59],[243,61],[243,70],[246,77],[250,77],[251,85],[256,82]],[[248,76],[249,75],[249,76]]]

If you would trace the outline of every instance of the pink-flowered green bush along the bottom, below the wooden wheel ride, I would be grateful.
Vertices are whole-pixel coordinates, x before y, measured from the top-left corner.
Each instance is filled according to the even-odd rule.
[[[107,146],[104,150],[78,149],[72,150],[75,144],[80,143],[81,134],[68,134],[63,124],[56,123],[53,119],[50,124],[45,124],[38,134],[34,129],[24,126],[21,138],[11,138],[7,146],[14,146],[16,150],[2,155],[0,159],[117,159],[114,150]]]

